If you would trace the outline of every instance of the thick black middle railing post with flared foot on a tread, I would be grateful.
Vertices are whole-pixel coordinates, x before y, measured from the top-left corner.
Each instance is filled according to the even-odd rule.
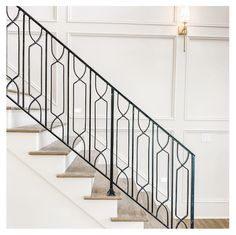
[[[114,149],[114,88],[111,87],[111,146],[110,146],[110,189],[108,196],[115,196],[113,189],[113,150]]]

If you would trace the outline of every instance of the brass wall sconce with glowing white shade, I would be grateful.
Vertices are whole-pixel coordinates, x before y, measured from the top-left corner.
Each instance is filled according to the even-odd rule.
[[[178,27],[178,35],[184,36],[184,52],[186,51],[186,38],[188,34],[189,7],[180,9],[180,25]]]

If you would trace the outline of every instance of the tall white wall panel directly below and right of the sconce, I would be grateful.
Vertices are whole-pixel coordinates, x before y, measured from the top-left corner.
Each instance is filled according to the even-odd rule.
[[[189,37],[186,120],[228,120],[229,51],[226,38]]]

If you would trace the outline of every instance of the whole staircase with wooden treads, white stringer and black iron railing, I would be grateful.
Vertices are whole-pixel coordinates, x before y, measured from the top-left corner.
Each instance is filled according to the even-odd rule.
[[[194,228],[195,155],[24,9],[7,20],[8,151],[103,228]]]

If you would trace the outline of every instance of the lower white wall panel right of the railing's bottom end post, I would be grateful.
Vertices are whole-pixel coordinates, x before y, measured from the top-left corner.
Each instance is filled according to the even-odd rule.
[[[184,142],[196,154],[196,213],[225,217],[229,211],[229,133],[227,130],[185,130]],[[208,210],[214,204],[215,211]],[[223,205],[222,205],[223,204]],[[205,206],[205,212],[203,212]],[[224,206],[221,212],[216,212]]]

